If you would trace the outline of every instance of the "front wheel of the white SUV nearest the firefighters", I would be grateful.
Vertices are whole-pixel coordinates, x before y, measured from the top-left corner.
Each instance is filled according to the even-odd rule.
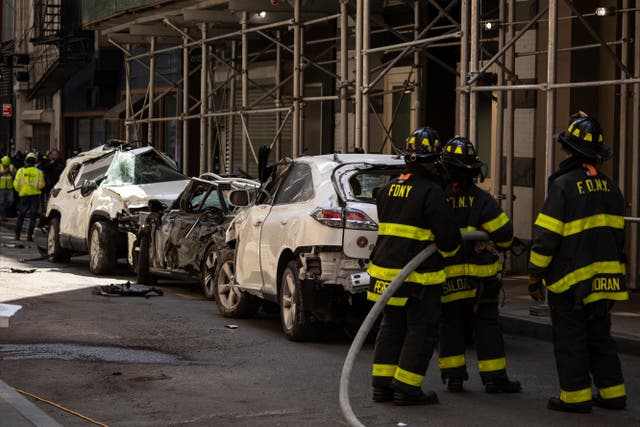
[[[222,250],[213,278],[214,298],[224,317],[251,317],[260,308],[260,300],[236,286],[233,250]]]

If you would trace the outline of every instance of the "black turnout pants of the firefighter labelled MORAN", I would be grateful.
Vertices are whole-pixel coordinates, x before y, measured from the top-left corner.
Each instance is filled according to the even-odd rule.
[[[572,291],[549,292],[553,350],[560,379],[560,400],[591,402],[591,376],[603,399],[625,399],[616,343],[611,337],[613,301],[576,306]]]

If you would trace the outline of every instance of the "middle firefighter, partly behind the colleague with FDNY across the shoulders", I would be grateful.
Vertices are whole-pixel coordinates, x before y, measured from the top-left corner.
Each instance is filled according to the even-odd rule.
[[[438,365],[442,381],[453,392],[463,391],[469,379],[465,362],[466,325],[471,326],[478,356],[478,370],[487,393],[517,393],[518,381],[507,377],[498,298],[502,264],[498,251],[511,247],[513,226],[498,202],[476,185],[483,179],[476,150],[466,138],[455,137],[444,147],[442,166],[453,220],[460,231],[485,231],[490,241],[466,241],[447,260],[447,282],[442,294],[442,323]]]

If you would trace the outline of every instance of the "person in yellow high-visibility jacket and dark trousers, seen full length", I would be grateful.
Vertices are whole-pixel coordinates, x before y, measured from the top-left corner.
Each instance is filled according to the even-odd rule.
[[[13,188],[18,192],[18,219],[16,221],[15,240],[20,240],[22,223],[28,214],[31,218],[27,240],[33,241],[33,231],[36,228],[38,216],[38,206],[40,205],[40,193],[44,188],[44,174],[36,167],[37,157],[34,153],[29,153],[25,157],[24,167],[18,169],[16,178],[13,181]]]

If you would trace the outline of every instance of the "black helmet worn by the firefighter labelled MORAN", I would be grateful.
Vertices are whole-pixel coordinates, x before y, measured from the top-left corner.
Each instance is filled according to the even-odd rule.
[[[602,128],[597,120],[580,111],[573,116],[567,130],[556,135],[556,138],[567,151],[593,159],[598,162],[613,157],[613,150],[604,143]]]

